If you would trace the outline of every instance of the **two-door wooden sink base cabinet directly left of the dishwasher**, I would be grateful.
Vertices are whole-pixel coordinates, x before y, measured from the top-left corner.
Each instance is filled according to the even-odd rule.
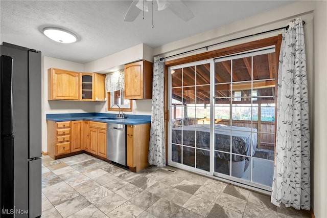
[[[107,158],[107,123],[89,122],[89,152]]]

